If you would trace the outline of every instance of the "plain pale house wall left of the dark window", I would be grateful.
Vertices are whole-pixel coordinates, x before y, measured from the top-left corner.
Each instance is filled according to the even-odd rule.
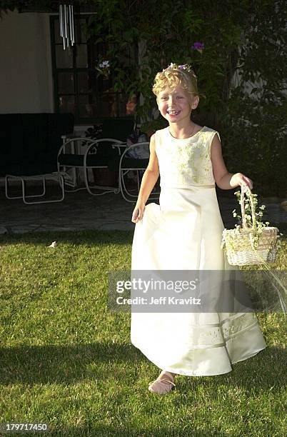
[[[3,14],[0,59],[0,114],[54,112],[49,14]]]

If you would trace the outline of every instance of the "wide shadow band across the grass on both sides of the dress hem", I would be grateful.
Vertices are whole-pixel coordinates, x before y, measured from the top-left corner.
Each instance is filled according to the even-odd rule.
[[[123,383],[127,366],[136,368],[146,360],[141,351],[128,343],[0,348],[0,383],[69,384],[87,378],[91,381],[121,379]],[[182,383],[186,388],[201,384],[210,385],[212,388],[214,384],[217,386],[218,383],[226,383],[228,386],[244,388],[252,386],[256,391],[261,391],[283,385],[286,378],[285,366],[286,354],[283,349],[269,346],[256,356],[234,364],[231,373],[218,376],[180,376],[178,383],[180,381],[180,385]]]

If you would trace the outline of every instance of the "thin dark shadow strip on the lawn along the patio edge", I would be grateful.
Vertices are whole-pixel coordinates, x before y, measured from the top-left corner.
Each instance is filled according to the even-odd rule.
[[[134,231],[49,231],[36,233],[14,233],[1,235],[1,246],[9,244],[31,244],[49,246],[51,241],[58,244],[129,244],[132,243]]]

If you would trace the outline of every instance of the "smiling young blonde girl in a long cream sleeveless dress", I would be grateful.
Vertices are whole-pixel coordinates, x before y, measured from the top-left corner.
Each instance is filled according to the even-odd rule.
[[[156,74],[153,93],[169,126],[151,136],[150,159],[131,218],[136,223],[131,270],[228,271],[215,183],[223,190],[252,189],[252,181],[228,173],[218,132],[191,120],[199,98],[190,66],[171,64]],[[145,206],[159,175],[160,205]],[[131,343],[162,369],[148,385],[160,394],[171,391],[177,374],[228,373],[231,363],[266,348],[254,313],[132,311]]]

